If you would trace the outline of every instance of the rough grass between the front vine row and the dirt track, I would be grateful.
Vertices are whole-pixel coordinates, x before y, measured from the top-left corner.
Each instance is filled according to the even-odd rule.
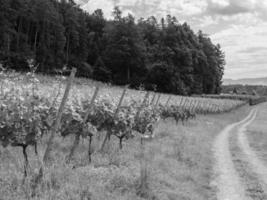
[[[92,163],[87,159],[87,141],[82,141],[75,160],[64,160],[73,138],[56,138],[53,146],[53,166],[45,169],[44,180],[31,197],[33,177],[38,160],[29,149],[30,176],[22,184],[23,157],[17,148],[0,147],[0,199],[2,200],[207,200],[215,199],[212,181],[212,142],[224,126],[245,116],[249,108],[231,113],[198,116],[197,120],[178,124],[161,121],[155,138],[146,142],[147,193],[140,195],[140,138],[124,143],[119,150],[112,137],[103,153],[97,152],[103,134],[93,141]],[[39,145],[40,156],[46,147]],[[73,168],[73,166],[75,166]]]

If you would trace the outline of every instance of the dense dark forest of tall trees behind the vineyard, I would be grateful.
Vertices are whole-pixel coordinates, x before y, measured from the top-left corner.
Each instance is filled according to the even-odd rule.
[[[0,0],[0,63],[181,95],[221,92],[225,55],[202,31],[174,16],[135,19],[119,7],[113,19],[72,0]]]

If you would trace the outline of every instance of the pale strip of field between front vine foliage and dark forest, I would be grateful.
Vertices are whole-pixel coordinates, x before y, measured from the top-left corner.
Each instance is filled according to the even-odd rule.
[[[66,79],[68,77],[51,77],[44,75],[36,75],[34,80],[25,76],[25,74],[15,74],[11,75],[11,77],[15,76],[16,78],[8,78],[0,80],[1,88],[10,88],[14,87],[16,89],[21,90],[31,90],[33,82],[36,87],[36,92],[38,92],[41,96],[46,96],[47,98],[54,98],[58,92],[60,97],[63,96]],[[5,81],[3,81],[5,80]],[[89,101],[94,93],[95,87],[100,87],[100,92],[97,97],[97,100],[105,99],[115,104],[118,104],[120,96],[124,87],[120,86],[112,86],[109,84],[105,84],[102,82],[93,81],[90,79],[84,78],[75,78],[74,84],[72,85],[72,90],[69,96],[69,104],[72,104],[73,101],[81,102],[84,100]],[[142,101],[146,91],[128,89],[127,93],[123,99],[123,105],[127,105],[131,100],[139,100]],[[4,91],[4,90],[3,90]],[[180,105],[184,107],[190,107],[189,102],[192,101],[193,104],[199,104],[201,109],[209,110],[211,106],[215,107],[218,111],[226,111],[234,109],[236,106],[243,104],[242,101],[239,100],[224,100],[224,99],[213,99],[213,98],[201,98],[201,97],[184,97],[179,95],[170,95],[170,94],[160,94],[151,92],[149,96],[149,100],[151,101],[156,95],[156,100],[159,98],[159,104],[165,105],[170,98],[168,104],[169,105]],[[58,98],[60,100],[61,98]]]

